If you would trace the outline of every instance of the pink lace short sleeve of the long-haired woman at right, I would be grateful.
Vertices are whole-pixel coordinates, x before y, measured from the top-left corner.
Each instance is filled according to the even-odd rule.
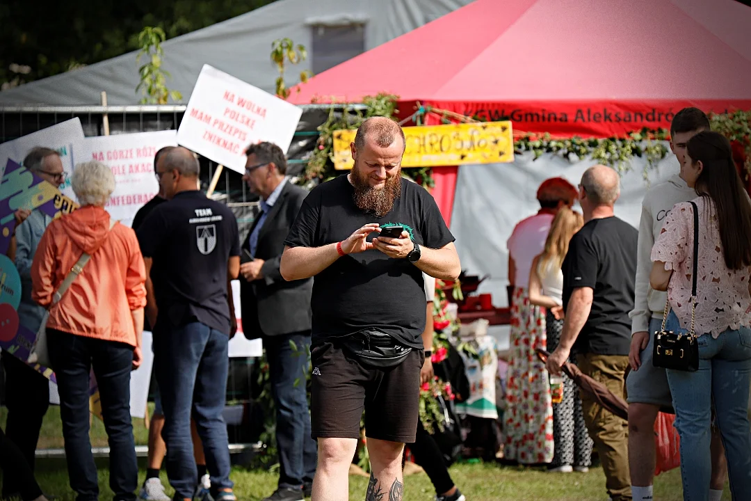
[[[665,218],[659,237],[652,247],[652,261],[665,263],[665,270],[675,270],[686,261],[692,245],[694,211],[690,203],[676,204]]]

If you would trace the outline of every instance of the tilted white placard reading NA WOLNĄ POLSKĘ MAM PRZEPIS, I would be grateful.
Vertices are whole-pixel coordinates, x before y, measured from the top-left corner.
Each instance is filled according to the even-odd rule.
[[[243,174],[246,147],[268,141],[286,152],[302,114],[300,107],[204,65],[177,142]]]

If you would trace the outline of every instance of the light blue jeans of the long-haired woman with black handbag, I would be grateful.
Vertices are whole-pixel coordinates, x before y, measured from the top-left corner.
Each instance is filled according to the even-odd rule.
[[[666,328],[677,330],[671,312]],[[710,420],[714,403],[716,420],[728,459],[733,499],[751,493],[751,328],[725,330],[717,339],[711,334],[698,338],[699,370],[695,373],[668,370],[673,394],[675,427],[680,435],[680,472],[683,499],[708,501],[712,474]]]

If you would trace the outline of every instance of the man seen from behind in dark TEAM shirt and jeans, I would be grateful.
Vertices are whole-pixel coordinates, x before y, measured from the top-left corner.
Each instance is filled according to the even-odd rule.
[[[240,273],[240,238],[231,210],[198,190],[198,174],[198,160],[188,149],[177,147],[159,158],[156,176],[168,201],[152,210],[137,236],[174,499],[192,499],[198,484],[192,416],[213,499],[235,501],[222,412],[228,343],[236,326],[230,281]]]

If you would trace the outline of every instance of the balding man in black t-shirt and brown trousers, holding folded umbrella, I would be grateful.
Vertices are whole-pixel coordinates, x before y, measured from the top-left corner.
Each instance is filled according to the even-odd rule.
[[[581,177],[579,203],[585,223],[572,237],[563,261],[566,321],[547,370],[559,374],[573,351],[583,373],[626,400],[638,231],[614,216],[619,195],[620,177],[612,168],[595,165]],[[582,394],[581,403],[608,495],[613,501],[632,499],[628,423],[590,395]]]

